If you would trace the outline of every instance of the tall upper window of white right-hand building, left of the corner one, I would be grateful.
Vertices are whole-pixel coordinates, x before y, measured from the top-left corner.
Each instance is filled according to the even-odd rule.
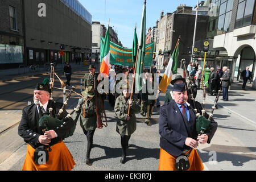
[[[231,15],[234,0],[221,0],[218,13],[217,35],[225,34],[230,29]],[[214,27],[215,28],[215,27]]]

